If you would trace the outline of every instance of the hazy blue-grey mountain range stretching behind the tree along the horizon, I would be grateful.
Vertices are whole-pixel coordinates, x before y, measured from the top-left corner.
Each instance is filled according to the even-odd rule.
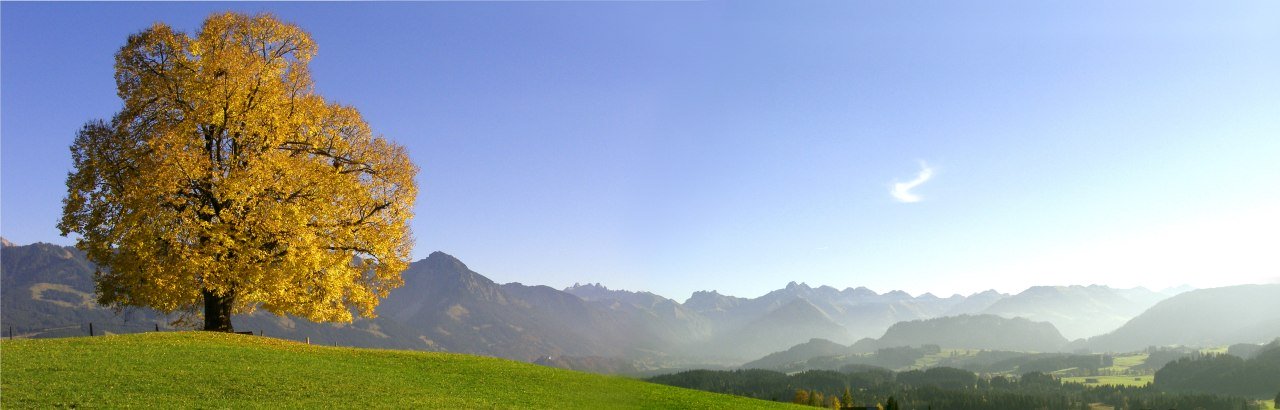
[[[109,332],[129,331],[124,328],[127,324],[134,329],[156,324],[170,328],[172,318],[146,309],[115,311],[96,305],[93,265],[73,247],[5,242],[0,261],[0,322],[18,333],[35,337],[79,334],[77,332],[83,333],[83,329],[74,327],[90,322]],[[1037,332],[1046,338],[1036,342],[1036,348],[1060,345],[1080,348],[1094,340],[1098,346],[1112,346],[1101,334],[1121,328],[1167,297],[1143,288],[1105,286],[1033,287],[1016,295],[986,291],[937,297],[791,282],[754,299],[703,291],[678,302],[650,292],[609,290],[598,283],[564,290],[499,284],[444,252],[433,252],[412,263],[402,277],[404,286],[381,302],[378,318],[357,319],[351,324],[317,324],[257,311],[238,315],[233,323],[243,331],[328,345],[470,352],[570,366],[585,364],[589,370],[595,366],[593,364],[602,366],[598,370],[646,370],[737,365],[812,338],[849,345],[881,337],[877,346],[884,347],[896,343],[893,334],[913,327],[963,320],[977,325],[983,320],[1015,316],[1025,319],[998,322],[1041,329]],[[929,322],[938,318],[952,319]],[[110,325],[122,328],[113,331]],[[59,327],[68,329],[49,331]],[[1064,336],[1078,341],[1066,345]],[[1084,340],[1089,336],[1096,337]],[[1229,337],[1240,338],[1233,342],[1254,342],[1248,338],[1254,334],[1243,332]],[[1261,340],[1275,336],[1280,334]]]

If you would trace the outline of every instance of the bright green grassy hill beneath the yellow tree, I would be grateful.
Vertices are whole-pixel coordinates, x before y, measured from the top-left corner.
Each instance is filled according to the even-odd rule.
[[[786,407],[527,363],[207,332],[0,342],[3,407]]]

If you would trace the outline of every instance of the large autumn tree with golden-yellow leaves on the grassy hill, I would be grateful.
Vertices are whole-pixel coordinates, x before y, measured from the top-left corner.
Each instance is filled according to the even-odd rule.
[[[403,283],[417,168],[315,94],[315,53],[271,15],[129,36],[123,108],[77,135],[58,226],[97,264],[101,304],[202,311],[205,329],[229,332],[259,308],[372,316]]]

